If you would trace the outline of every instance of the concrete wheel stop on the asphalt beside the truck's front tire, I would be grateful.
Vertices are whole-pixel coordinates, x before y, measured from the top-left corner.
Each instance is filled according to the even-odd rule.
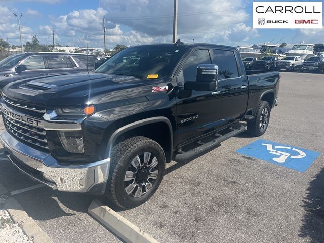
[[[88,213],[127,243],[158,243],[99,200],[92,201]]]

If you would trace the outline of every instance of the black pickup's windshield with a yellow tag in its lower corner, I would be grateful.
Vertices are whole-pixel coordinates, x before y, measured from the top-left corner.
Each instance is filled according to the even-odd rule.
[[[128,75],[141,79],[166,76],[184,52],[177,46],[137,46],[118,52],[94,72]]]

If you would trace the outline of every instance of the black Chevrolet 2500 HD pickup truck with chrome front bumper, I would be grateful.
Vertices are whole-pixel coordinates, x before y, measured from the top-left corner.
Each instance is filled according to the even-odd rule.
[[[17,81],[0,101],[12,163],[59,191],[105,194],[136,207],[165,163],[188,161],[247,130],[262,135],[278,72],[246,73],[236,48],[129,47],[90,73]]]

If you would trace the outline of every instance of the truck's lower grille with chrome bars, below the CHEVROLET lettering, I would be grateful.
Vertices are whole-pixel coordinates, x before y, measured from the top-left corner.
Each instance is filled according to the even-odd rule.
[[[46,131],[44,129],[21,123],[6,114],[3,114],[3,118],[6,130],[14,137],[23,140],[32,146],[45,150],[49,149],[46,139]]]

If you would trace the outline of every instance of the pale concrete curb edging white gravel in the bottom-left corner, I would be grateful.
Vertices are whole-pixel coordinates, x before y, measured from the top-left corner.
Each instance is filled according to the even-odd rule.
[[[0,184],[0,195],[2,194],[8,194],[8,191]],[[4,208],[8,210],[13,221],[21,226],[24,233],[33,238],[34,243],[53,243],[51,238],[29,217],[15,198],[9,197],[4,203]]]

